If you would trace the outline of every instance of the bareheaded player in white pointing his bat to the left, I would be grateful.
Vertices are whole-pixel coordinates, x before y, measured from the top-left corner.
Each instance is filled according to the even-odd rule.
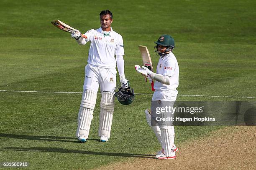
[[[121,87],[128,87],[124,74],[124,49],[123,38],[111,28],[113,15],[109,10],[100,13],[100,25],[97,30],[89,30],[84,33],[85,38],[77,30],[71,36],[79,45],[91,42],[88,55],[88,64],[85,66],[84,91],[78,113],[77,137],[78,142],[86,142],[92,114],[95,108],[97,91],[100,86],[100,126],[98,135],[100,141],[107,142],[110,138],[110,130],[115,107],[113,89],[116,84],[116,65],[120,75]]]

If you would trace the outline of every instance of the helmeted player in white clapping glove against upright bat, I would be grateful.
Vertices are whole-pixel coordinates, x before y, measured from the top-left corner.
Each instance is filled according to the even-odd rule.
[[[146,77],[150,83],[154,83],[154,95],[152,101],[169,101],[171,107],[177,98],[179,85],[179,65],[176,57],[172,53],[174,49],[174,39],[170,35],[161,35],[155,47],[156,54],[160,56],[156,73],[148,70],[147,67],[135,65],[136,71]],[[151,102],[152,103],[152,102]],[[152,105],[151,105],[152,107]],[[175,152],[178,150],[174,145],[174,127],[173,125],[163,125],[158,122],[156,126],[151,124],[151,112],[145,110],[148,125],[156,134],[161,143],[162,150],[156,153],[157,159],[175,159]],[[153,114],[153,113],[152,113]]]

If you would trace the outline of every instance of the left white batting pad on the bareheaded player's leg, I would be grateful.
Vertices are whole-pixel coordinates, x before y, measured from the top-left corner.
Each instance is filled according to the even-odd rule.
[[[95,107],[97,93],[92,90],[84,90],[82,101],[77,117],[77,137],[84,135],[88,138],[90,126],[93,117],[93,110]]]

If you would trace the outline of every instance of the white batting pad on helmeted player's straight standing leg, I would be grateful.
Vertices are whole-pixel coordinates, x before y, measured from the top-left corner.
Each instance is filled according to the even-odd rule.
[[[164,149],[164,154],[166,157],[170,157],[174,155],[174,133],[172,130],[173,126],[160,127],[161,130],[161,138],[162,138],[162,148]]]

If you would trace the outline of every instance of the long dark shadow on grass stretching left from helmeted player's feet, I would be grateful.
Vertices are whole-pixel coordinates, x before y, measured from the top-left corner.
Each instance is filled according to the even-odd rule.
[[[3,150],[15,150],[15,151],[25,151],[25,152],[50,152],[50,153],[77,153],[85,155],[106,155],[106,156],[118,156],[118,157],[136,157],[136,158],[148,158],[154,159],[154,155],[146,154],[133,154],[133,153],[105,153],[105,152],[95,152],[86,150],[70,150],[65,148],[46,148],[46,147],[30,147],[30,148],[19,148],[19,147],[6,147]]]

